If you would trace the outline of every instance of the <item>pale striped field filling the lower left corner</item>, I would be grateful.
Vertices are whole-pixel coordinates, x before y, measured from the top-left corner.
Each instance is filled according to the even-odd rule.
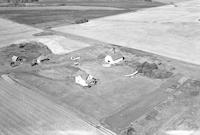
[[[0,78],[1,135],[103,135],[66,108],[8,82]]]

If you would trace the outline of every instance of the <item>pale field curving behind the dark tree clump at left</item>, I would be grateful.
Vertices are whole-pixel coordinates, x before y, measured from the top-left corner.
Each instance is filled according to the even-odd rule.
[[[42,30],[0,19],[0,47],[11,43],[38,41],[48,46],[53,53],[64,54],[89,46],[89,44],[71,40],[63,36],[33,36],[33,34],[39,32],[42,32]]]

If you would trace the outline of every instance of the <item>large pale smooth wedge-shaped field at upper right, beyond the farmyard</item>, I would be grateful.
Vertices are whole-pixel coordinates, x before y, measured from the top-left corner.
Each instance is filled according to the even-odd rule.
[[[99,18],[53,30],[200,64],[200,0]]]

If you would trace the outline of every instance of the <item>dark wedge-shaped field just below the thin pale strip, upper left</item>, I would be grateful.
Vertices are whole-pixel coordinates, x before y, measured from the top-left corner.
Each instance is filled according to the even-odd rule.
[[[127,10],[10,10],[0,11],[0,16],[18,23],[36,27],[51,27],[73,24],[76,20],[94,19],[127,12]]]

